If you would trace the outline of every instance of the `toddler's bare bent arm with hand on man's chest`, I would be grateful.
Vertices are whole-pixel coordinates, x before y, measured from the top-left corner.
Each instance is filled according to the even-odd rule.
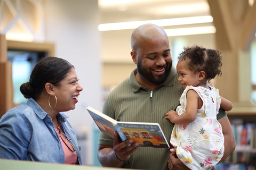
[[[189,124],[194,122],[196,119],[197,107],[198,107],[199,96],[194,90],[189,90],[187,92],[187,107],[186,112],[182,113],[180,116],[175,111],[169,111],[166,113],[165,118],[169,119],[175,124]]]

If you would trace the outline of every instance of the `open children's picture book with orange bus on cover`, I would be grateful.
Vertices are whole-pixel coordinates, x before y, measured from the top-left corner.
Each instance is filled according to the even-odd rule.
[[[141,147],[170,148],[158,123],[118,122],[90,106],[87,111],[99,130],[113,139],[116,131],[122,141],[132,139]]]

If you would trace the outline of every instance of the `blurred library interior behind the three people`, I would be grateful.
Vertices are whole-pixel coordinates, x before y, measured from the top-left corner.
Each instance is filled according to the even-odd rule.
[[[197,44],[221,52],[222,76],[212,82],[234,103],[228,115],[238,139],[236,151],[219,168],[255,168],[254,0],[1,0],[0,116],[26,101],[19,87],[28,81],[39,58],[64,58],[76,67],[84,88],[76,109],[66,114],[82,146],[83,164],[100,166],[99,131],[86,107],[101,111],[109,91],[136,67],[130,36],[143,23],[166,31],[174,66],[184,46]],[[242,137],[246,143],[239,142]]]

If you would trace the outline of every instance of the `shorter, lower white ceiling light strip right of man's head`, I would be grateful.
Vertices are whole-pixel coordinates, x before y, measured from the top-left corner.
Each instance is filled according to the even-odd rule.
[[[209,27],[190,27],[190,28],[178,28],[178,29],[165,29],[168,37],[174,36],[186,36],[186,35],[198,35],[206,33],[215,33],[216,28],[214,26]]]

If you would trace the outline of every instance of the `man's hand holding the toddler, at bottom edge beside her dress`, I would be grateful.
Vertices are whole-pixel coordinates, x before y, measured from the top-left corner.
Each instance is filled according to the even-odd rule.
[[[171,149],[171,154],[169,155],[168,168],[169,170],[190,170],[186,165],[184,165],[176,155],[176,149]]]

